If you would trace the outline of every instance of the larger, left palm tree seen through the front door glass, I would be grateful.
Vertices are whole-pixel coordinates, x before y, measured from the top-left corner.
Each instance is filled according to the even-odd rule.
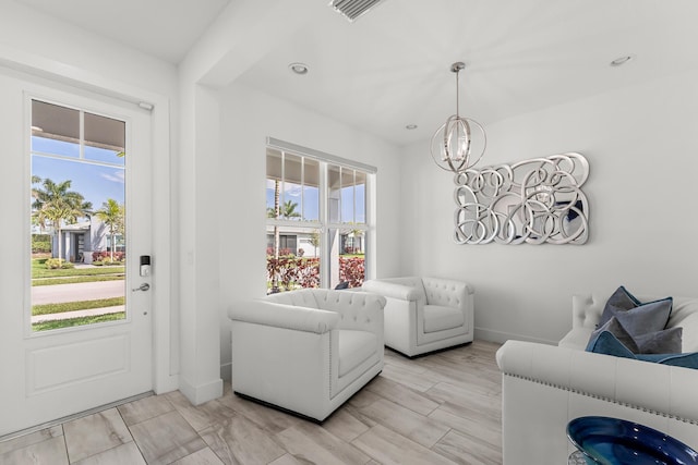
[[[32,176],[32,182],[40,184],[40,187],[32,188],[32,215],[36,218],[41,228],[47,223],[53,227],[58,236],[58,259],[62,260],[62,236],[61,228],[63,222],[72,224],[77,218],[91,215],[92,204],[85,201],[82,194],[69,191],[72,181],[55,183],[50,179],[41,180]]]

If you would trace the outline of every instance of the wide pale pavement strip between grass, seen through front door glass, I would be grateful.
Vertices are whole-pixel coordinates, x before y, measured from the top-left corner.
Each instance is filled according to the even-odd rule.
[[[32,305],[123,297],[125,281],[82,282],[32,287]]]

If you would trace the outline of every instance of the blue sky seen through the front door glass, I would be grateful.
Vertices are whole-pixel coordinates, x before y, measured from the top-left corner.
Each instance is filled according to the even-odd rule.
[[[95,147],[85,147],[85,159],[108,162],[113,166],[93,164],[79,159],[77,144],[52,140],[45,137],[32,137],[33,151],[58,155],[61,158],[32,156],[32,174],[50,179],[55,183],[71,181],[71,191],[77,192],[99,209],[108,198],[124,203],[125,159],[116,156],[116,151]]]

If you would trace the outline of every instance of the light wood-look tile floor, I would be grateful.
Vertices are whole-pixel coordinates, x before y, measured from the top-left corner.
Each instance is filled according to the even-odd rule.
[[[498,344],[476,341],[383,372],[322,426],[230,392],[197,407],[178,391],[0,442],[0,463],[501,464]]]

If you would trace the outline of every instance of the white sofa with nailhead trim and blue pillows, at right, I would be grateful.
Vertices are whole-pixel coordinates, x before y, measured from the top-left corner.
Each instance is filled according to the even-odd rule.
[[[698,450],[698,369],[585,352],[607,298],[573,297],[573,329],[557,346],[507,341],[497,351],[505,464],[566,464],[575,450],[567,423],[588,415],[636,421]],[[674,297],[674,327],[683,352],[697,352],[697,298]]]

